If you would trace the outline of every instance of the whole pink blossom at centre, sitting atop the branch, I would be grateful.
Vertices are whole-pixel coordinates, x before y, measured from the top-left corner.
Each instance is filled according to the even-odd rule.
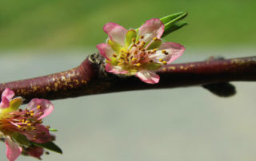
[[[158,18],[148,20],[138,31],[125,29],[109,22],[103,30],[108,34],[106,44],[99,44],[99,53],[106,58],[106,71],[126,76],[135,75],[142,81],[159,81],[156,70],[182,55],[185,48],[174,42],[162,43],[164,25]]]

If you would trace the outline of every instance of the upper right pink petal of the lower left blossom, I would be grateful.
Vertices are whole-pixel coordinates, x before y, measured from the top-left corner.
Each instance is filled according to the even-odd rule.
[[[40,108],[38,108],[38,106],[40,106]],[[54,104],[51,104],[49,100],[34,98],[33,100],[30,100],[30,103],[26,108],[33,110],[34,116],[38,116],[37,120],[41,120],[53,112]],[[43,112],[43,114],[41,115],[40,112]]]

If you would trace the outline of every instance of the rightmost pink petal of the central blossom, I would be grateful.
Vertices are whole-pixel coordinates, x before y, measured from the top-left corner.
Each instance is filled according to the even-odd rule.
[[[171,62],[175,61],[185,51],[184,46],[176,44],[174,42],[166,42],[166,43],[162,44],[158,48],[158,50],[162,50],[162,49],[166,50],[166,52],[169,53],[167,55],[168,58],[166,58],[167,63],[171,63]]]

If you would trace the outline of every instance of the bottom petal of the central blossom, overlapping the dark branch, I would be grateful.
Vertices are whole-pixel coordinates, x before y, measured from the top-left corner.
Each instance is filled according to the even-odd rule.
[[[147,70],[142,70],[136,73],[135,76],[148,84],[157,84],[160,80],[158,74]]]

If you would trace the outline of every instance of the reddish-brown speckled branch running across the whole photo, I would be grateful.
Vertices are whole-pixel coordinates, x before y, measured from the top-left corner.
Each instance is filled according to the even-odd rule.
[[[256,81],[256,57],[166,65],[158,71],[161,77],[158,84],[146,84],[137,77],[105,73],[101,59],[87,57],[82,65],[65,72],[0,84],[0,93],[8,87],[28,102],[35,97],[55,100],[108,92]]]

